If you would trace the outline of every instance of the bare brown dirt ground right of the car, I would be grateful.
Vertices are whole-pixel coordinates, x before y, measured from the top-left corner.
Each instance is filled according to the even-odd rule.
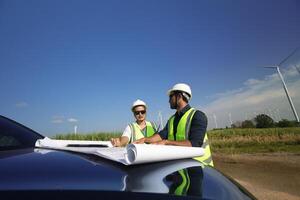
[[[258,199],[300,200],[300,154],[215,154],[213,159]]]

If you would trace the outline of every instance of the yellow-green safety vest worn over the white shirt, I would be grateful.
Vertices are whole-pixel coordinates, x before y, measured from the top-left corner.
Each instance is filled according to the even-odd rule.
[[[146,121],[146,134],[144,135],[144,133],[142,132],[142,130],[140,129],[139,125],[136,122],[133,122],[131,124],[129,124],[130,130],[131,130],[131,138],[129,142],[133,142],[136,141],[138,139],[141,139],[143,137],[150,137],[152,136],[154,133],[156,133],[156,127],[155,124],[152,122],[148,122]]]

